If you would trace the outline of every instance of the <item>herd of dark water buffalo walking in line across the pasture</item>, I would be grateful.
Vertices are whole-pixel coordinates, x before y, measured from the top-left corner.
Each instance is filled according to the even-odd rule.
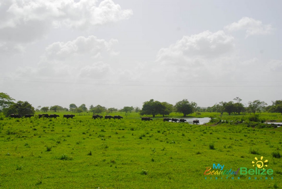
[[[31,117],[33,117],[33,116],[34,116],[34,115],[26,114],[26,115],[24,115],[24,118],[27,118],[27,117],[31,118]],[[11,114],[10,117],[21,118],[21,117],[23,117],[23,116],[20,115],[20,114]],[[57,117],[60,117],[60,116],[59,116],[59,115],[56,115],[56,114],[50,114],[50,115],[48,115],[48,114],[38,114],[38,118],[41,118],[41,117],[57,119]],[[73,115],[73,114],[67,114],[67,115],[63,115],[63,117],[65,117],[65,118],[67,118],[67,119],[69,119],[69,118],[73,119],[73,117],[75,117],[75,115]],[[92,119],[95,120],[95,119],[97,119],[97,118],[102,119],[103,116],[102,116],[102,115],[92,115]],[[115,115],[115,116],[105,115],[105,119],[109,119],[109,120],[110,120],[111,118],[117,119],[117,120],[123,119],[123,117],[120,116],[120,115]],[[152,118],[150,118],[150,117],[141,117],[141,121],[150,121],[150,120],[152,120]],[[184,120],[184,119],[175,119],[175,118],[164,118],[163,121],[164,121],[164,122],[165,122],[165,121],[167,121],[167,122],[172,121],[172,122],[175,122],[175,123],[177,123],[177,121],[178,121],[179,123],[181,123],[181,122],[184,123],[186,120]],[[193,121],[193,124],[194,124],[194,123],[198,124],[198,123],[199,123],[199,120],[194,120],[194,121]]]

